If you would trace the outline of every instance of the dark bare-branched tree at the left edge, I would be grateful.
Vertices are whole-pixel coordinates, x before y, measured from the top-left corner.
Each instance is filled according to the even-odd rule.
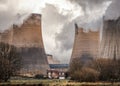
[[[16,47],[0,43],[0,81],[8,81],[21,68],[21,57]]]

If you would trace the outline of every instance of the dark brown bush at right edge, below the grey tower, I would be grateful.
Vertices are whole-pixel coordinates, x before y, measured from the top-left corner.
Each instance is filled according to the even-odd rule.
[[[100,72],[99,80],[101,81],[111,81],[120,80],[120,63],[119,60],[114,61],[112,59],[100,58],[97,59],[94,64],[95,69]]]

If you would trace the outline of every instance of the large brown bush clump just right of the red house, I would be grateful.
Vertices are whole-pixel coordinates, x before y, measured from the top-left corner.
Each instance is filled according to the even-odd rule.
[[[97,81],[99,72],[91,67],[93,65],[93,59],[86,57],[86,59],[83,60],[83,58],[75,58],[72,60],[69,69],[71,79],[84,82]]]

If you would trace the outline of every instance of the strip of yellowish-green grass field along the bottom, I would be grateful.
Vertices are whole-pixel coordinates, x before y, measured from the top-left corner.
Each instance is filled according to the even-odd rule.
[[[86,82],[73,82],[69,80],[10,80],[7,83],[0,83],[0,86],[120,86],[120,83],[86,83]]]

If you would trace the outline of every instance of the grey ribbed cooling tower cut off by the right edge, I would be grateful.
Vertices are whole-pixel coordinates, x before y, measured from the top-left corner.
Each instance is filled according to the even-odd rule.
[[[120,17],[117,20],[104,20],[100,48],[102,58],[120,58]]]

